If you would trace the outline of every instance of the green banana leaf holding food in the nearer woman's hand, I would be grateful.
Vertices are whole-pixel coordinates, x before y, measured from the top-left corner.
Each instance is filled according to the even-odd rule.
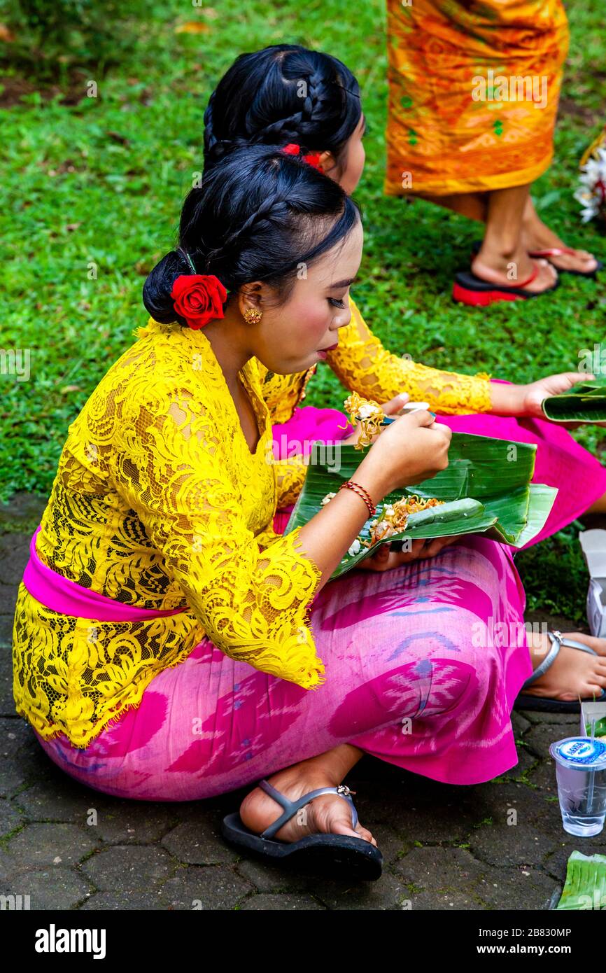
[[[303,489],[285,533],[310,521],[322,509],[321,501],[327,493],[337,492],[345,480],[355,479],[355,471],[368,449],[314,443]],[[528,443],[453,433],[446,470],[431,480],[390,493],[377,504],[376,517],[380,517],[387,503],[412,493],[436,497],[445,501],[444,506],[411,514],[405,532],[392,534],[370,548],[362,547],[355,555],[346,554],[331,577],[338,578],[351,570],[381,544],[408,538],[483,533],[522,547],[543,528],[557,493],[553,486],[530,483],[536,450]],[[370,523],[369,518],[360,531],[366,541],[370,539]]]

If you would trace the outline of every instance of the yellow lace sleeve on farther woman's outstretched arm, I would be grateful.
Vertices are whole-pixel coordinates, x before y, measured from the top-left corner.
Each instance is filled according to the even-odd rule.
[[[382,404],[401,392],[410,401],[427,402],[444,415],[490,412],[490,380],[442,372],[399,358],[383,347],[350,299],[351,321],[339,332],[339,347],[327,361],[342,384],[352,392]]]

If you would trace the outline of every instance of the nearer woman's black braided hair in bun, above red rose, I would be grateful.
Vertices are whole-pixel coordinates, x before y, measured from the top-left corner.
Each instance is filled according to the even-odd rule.
[[[336,246],[358,219],[358,206],[339,184],[300,158],[267,145],[235,149],[185,199],[177,248],[148,276],[143,303],[157,321],[185,325],[170,292],[179,274],[193,270],[215,274],[228,294],[265,281],[283,303],[298,270]]]

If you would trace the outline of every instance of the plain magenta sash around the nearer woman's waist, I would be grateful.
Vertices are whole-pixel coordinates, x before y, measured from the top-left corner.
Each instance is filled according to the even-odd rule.
[[[177,615],[184,608],[171,608],[156,611],[150,608],[135,608],[122,604],[107,595],[99,595],[83,588],[69,578],[63,578],[40,560],[36,553],[36,537],[40,527],[34,532],[29,543],[29,560],[23,573],[23,584],[32,597],[52,611],[73,618],[89,618],[97,622],[145,622],[164,615]]]

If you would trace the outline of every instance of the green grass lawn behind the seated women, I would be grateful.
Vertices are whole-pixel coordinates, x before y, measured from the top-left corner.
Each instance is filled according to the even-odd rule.
[[[0,3],[0,20],[2,14]],[[572,197],[579,158],[606,122],[600,115],[602,5],[586,0],[571,4],[568,14],[572,41],[555,162],[536,184],[535,203],[571,245],[606,259],[603,238],[593,224],[581,224]],[[176,33],[185,20],[199,20],[208,30]],[[66,79],[70,103],[60,92],[49,97],[30,90],[0,109],[0,346],[29,348],[31,363],[28,381],[0,376],[2,499],[18,489],[48,492],[68,424],[146,321],[141,288],[172,247],[181,200],[202,167],[208,95],[236,54],[267,44],[329,51],[359,78],[368,164],[356,194],[366,246],[354,296],[392,350],[427,365],[528,381],[575,369],[580,349],[604,340],[604,279],[596,285],[564,275],[549,299],[488,310],[451,303],[452,275],[467,266],[477,226],[428,203],[382,195],[382,0],[349,8],[340,0],[244,6],[223,0],[216,10],[152,0],[144,18],[127,29],[138,39],[133,53],[105,76],[87,68],[81,82]],[[5,91],[16,80],[9,70]],[[87,96],[88,81],[97,83],[97,97]],[[342,389],[327,367],[307,390],[305,404],[342,404]],[[604,450],[603,432],[588,428],[575,435],[588,448]],[[554,605],[583,617],[586,574],[574,528],[517,563],[531,606]]]

